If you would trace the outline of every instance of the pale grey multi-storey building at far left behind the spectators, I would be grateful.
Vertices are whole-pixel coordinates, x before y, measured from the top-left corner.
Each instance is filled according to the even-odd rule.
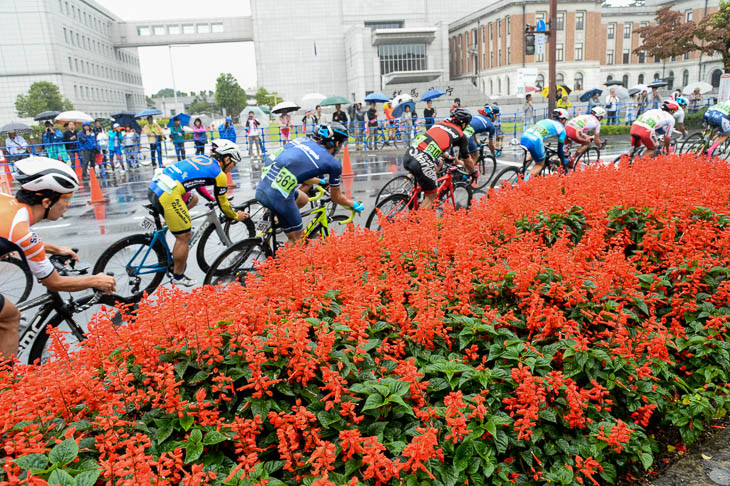
[[[0,115],[36,81],[94,117],[145,108],[137,49],[116,48],[113,14],[93,0],[0,1]]]

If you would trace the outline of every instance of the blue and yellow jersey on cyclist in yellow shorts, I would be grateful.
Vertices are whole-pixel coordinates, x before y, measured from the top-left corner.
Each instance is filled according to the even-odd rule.
[[[157,179],[150,182],[149,188],[159,197],[174,192],[182,196],[201,186],[215,186],[213,192],[221,211],[230,219],[237,219],[237,214],[226,197],[228,178],[218,161],[207,155],[196,155],[167,167]]]

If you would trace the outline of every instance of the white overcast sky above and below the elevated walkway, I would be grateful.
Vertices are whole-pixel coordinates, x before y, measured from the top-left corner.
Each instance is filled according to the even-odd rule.
[[[162,20],[250,15],[248,0],[96,0],[123,20]],[[232,73],[242,88],[256,86],[252,42],[173,47],[172,62],[178,91],[215,90],[220,73]],[[168,47],[140,47],[139,63],[147,95],[172,88]]]

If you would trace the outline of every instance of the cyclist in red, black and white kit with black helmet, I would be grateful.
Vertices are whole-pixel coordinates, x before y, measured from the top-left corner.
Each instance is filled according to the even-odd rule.
[[[474,162],[469,155],[469,135],[465,133],[471,120],[471,113],[457,107],[447,120],[438,122],[426,133],[419,134],[406,151],[403,167],[413,174],[423,189],[425,198],[421,203],[422,208],[430,208],[436,200],[436,160],[451,147],[459,147],[461,162],[469,173],[474,174]]]

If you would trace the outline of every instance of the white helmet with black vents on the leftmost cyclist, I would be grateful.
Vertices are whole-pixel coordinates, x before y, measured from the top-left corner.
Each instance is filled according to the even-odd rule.
[[[15,163],[15,180],[26,191],[69,194],[79,188],[73,169],[60,160],[28,157]]]

